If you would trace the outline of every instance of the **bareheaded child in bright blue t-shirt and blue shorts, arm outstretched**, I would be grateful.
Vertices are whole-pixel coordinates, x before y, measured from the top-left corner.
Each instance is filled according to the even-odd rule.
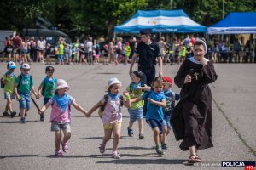
[[[132,99],[131,102],[138,102],[142,99],[145,100],[147,106],[146,120],[154,133],[155,150],[159,156],[164,155],[161,148],[161,134],[163,128],[164,112],[162,107],[166,107],[166,96],[162,93],[164,81],[162,77],[156,77],[153,81],[153,89],[150,92],[143,94],[137,99]]]

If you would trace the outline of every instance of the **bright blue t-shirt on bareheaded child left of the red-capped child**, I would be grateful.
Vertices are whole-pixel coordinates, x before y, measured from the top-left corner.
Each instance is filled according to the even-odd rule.
[[[161,102],[163,99],[166,99],[166,96],[164,93],[155,93],[154,90],[150,90],[150,93],[148,98],[153,99],[154,101]],[[145,99],[147,93],[144,93],[142,95],[142,98]],[[146,112],[146,119],[155,119],[155,120],[163,120],[164,119],[164,112],[163,107],[160,107],[158,105],[154,105],[147,101],[147,112]]]

